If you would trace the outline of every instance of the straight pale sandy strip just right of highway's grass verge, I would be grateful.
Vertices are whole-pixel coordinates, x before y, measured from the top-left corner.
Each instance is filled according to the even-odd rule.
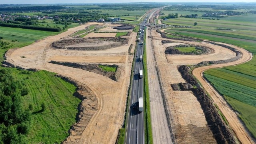
[[[164,108],[164,101],[160,89],[160,83],[156,71],[154,50],[151,47],[151,39],[146,32],[147,66],[148,66],[148,89],[150,96],[150,117],[154,144],[172,144],[172,136]]]

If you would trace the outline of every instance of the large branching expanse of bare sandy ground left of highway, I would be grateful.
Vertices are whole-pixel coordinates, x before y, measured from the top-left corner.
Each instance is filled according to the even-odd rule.
[[[130,35],[131,39],[126,46],[108,50],[76,51],[49,48],[50,43],[68,36],[77,30],[81,30],[85,26],[88,26],[88,24],[70,28],[68,31],[56,36],[50,36],[40,42],[14,50],[6,61],[23,68],[37,68],[40,70],[56,72],[77,80],[90,88],[97,98],[98,110],[90,119],[90,122],[83,130],[82,135],[72,137],[73,141],[75,141],[74,143],[80,144],[113,144],[116,141],[118,130],[123,123],[133,56],[128,55],[128,48],[130,44],[135,45],[136,33]],[[20,58],[20,56],[26,56],[26,58]],[[58,59],[54,56],[60,57]],[[116,82],[100,74],[47,62],[50,58],[55,58],[56,61],[61,60],[63,58],[61,56],[84,56],[78,57],[78,59],[86,59],[87,56],[102,56],[101,58],[103,58],[103,56],[119,56],[105,59],[122,59],[122,63],[119,63],[119,65],[124,66],[124,70],[122,71],[120,80]],[[92,59],[95,59],[95,57]],[[67,59],[67,57],[64,59]],[[100,61],[100,59],[98,60]]]

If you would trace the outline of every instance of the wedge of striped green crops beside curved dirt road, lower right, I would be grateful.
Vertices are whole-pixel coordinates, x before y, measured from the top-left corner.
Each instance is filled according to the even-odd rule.
[[[215,70],[215,69],[214,69]],[[239,112],[240,118],[246,124],[250,132],[256,136],[256,89],[224,80],[218,76],[212,76],[212,70],[204,72],[204,76],[226,98],[228,103]],[[210,74],[209,74],[210,73]],[[254,81],[255,82],[255,81]]]

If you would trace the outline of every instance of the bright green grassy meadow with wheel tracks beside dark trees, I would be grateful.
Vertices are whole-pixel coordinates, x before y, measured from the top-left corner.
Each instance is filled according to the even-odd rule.
[[[69,135],[76,122],[77,106],[81,102],[73,94],[76,87],[52,72],[30,72],[10,68],[12,75],[24,81],[29,92],[22,97],[24,108],[32,104],[32,122],[28,143],[60,143]],[[41,112],[41,104],[46,109]]]

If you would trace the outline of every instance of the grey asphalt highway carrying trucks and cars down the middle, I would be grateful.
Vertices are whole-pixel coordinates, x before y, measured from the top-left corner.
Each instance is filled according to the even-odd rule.
[[[149,16],[149,14],[148,14]],[[148,17],[147,16],[147,17]],[[137,38],[137,48],[136,48],[136,59],[134,62],[134,72],[132,79],[132,93],[130,96],[130,102],[128,102],[128,122],[126,131],[126,144],[144,144],[145,142],[145,127],[144,127],[144,111],[139,112],[139,98],[143,98],[144,90],[144,79],[140,78],[140,70],[143,70],[143,63],[140,61],[140,56],[143,55],[144,44],[144,28],[146,27],[147,21],[143,20],[140,23],[141,34],[139,34],[140,40]],[[144,70],[143,70],[144,71]],[[144,72],[143,72],[144,74]],[[144,103],[144,98],[143,98]],[[133,108],[135,104],[135,108]],[[144,109],[144,106],[143,106]]]

